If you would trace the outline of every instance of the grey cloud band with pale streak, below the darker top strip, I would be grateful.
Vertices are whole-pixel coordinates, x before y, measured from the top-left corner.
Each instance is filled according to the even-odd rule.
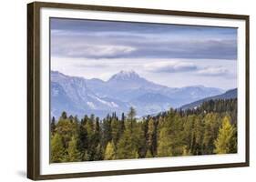
[[[235,40],[166,41],[138,37],[52,37],[54,56],[84,58],[216,58],[236,59]],[[103,52],[102,52],[103,51]],[[109,52],[107,52],[109,51]],[[102,54],[104,53],[104,54]]]

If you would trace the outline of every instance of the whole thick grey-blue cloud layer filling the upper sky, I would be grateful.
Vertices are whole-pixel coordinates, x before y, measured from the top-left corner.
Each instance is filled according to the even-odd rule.
[[[171,39],[173,36],[176,39]],[[235,60],[236,29],[53,19],[51,54],[81,58]]]

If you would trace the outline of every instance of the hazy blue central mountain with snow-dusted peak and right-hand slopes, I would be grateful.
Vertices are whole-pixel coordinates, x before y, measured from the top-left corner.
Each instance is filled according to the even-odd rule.
[[[161,86],[138,76],[134,71],[120,71],[111,76],[107,82],[99,79],[88,79],[87,86],[101,97],[115,97],[129,102],[148,93],[168,96],[171,106],[179,107],[207,96],[223,93],[220,88],[205,86],[186,86],[181,88]]]

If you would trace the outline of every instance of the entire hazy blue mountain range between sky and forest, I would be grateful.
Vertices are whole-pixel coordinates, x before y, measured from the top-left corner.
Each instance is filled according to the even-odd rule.
[[[215,87],[161,86],[134,71],[120,71],[107,81],[51,71],[51,116],[60,116],[64,110],[77,116],[104,117],[112,112],[119,116],[130,106],[135,107],[137,116],[145,116],[223,93]]]

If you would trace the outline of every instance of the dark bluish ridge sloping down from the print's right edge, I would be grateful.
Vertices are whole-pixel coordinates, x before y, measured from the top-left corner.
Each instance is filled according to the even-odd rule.
[[[192,109],[195,107],[200,106],[203,102],[209,101],[209,100],[216,100],[216,99],[231,99],[231,98],[237,98],[237,88],[230,89],[226,91],[224,94],[218,95],[218,96],[210,96],[203,99],[200,99],[196,102],[189,103],[184,106],[180,106],[180,109],[186,110],[186,109]]]

